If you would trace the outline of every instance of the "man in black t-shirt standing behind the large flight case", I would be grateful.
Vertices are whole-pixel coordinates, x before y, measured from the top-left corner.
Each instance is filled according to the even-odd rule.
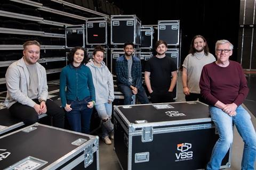
[[[148,60],[145,68],[145,82],[151,102],[173,102],[172,91],[177,82],[177,65],[171,57],[166,57],[165,41],[158,40],[155,48],[157,55]]]

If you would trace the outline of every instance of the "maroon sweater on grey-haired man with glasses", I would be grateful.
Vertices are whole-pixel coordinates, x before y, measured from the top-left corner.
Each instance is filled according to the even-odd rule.
[[[227,67],[218,66],[215,62],[203,67],[199,82],[201,95],[212,106],[218,100],[239,106],[249,92],[241,64],[229,62]]]

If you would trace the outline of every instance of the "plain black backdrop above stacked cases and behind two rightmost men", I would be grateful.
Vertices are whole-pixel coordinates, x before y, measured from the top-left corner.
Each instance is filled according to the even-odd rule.
[[[142,25],[156,25],[158,20],[180,20],[181,63],[195,35],[206,38],[212,54],[217,40],[228,39],[234,45],[231,60],[237,60],[239,0],[157,0],[152,3],[130,0],[114,3],[124,10],[123,14],[136,14]]]

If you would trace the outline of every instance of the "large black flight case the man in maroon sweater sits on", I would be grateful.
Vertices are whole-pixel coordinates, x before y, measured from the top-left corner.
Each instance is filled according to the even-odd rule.
[[[219,135],[199,101],[114,106],[114,147],[124,170],[204,169]],[[230,167],[231,151],[221,168]]]

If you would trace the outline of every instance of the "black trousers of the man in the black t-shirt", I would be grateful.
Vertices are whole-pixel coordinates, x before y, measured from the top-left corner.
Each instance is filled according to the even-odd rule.
[[[173,102],[172,92],[153,90],[150,94],[152,103],[170,103]]]

